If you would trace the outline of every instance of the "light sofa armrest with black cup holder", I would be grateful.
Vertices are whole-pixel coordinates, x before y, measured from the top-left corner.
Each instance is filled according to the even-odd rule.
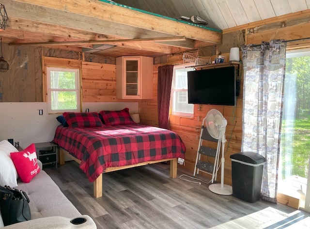
[[[65,218],[62,216],[50,216],[6,226],[2,229],[96,229],[93,219],[88,215],[76,218]]]

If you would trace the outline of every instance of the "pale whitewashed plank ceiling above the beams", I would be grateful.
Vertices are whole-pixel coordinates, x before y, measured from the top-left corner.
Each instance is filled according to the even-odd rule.
[[[236,26],[310,9],[310,0],[114,0],[172,18],[200,15],[208,27]]]

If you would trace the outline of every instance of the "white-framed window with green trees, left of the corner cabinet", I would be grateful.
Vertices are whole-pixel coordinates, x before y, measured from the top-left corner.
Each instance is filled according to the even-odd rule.
[[[80,112],[79,69],[47,67],[49,113]]]

